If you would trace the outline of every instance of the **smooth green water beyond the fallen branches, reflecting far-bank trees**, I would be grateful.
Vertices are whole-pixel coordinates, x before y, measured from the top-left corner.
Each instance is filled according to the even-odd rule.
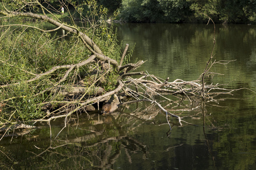
[[[132,61],[147,60],[141,70],[162,78],[197,79],[212,50],[213,25],[210,24],[118,24],[117,27],[120,40],[130,46],[136,43]],[[245,78],[248,74],[254,78],[249,82],[256,82],[255,30],[256,25],[216,25],[214,59],[236,60],[228,67],[213,67],[214,72],[228,75],[216,76],[216,82],[233,82],[237,75]]]

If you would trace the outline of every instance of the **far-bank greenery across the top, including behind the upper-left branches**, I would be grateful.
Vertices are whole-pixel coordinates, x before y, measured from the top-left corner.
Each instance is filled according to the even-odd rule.
[[[97,0],[101,6],[98,12],[121,22],[150,23],[203,23],[208,15],[215,23],[256,23],[256,1],[254,0]],[[19,3],[11,1],[10,5]],[[90,15],[90,1],[68,0],[63,4],[56,0],[40,1],[57,19],[80,20],[82,16]],[[64,15],[61,15],[61,5],[64,5]],[[26,11],[42,13],[38,6],[25,7]],[[47,16],[51,16],[47,12]],[[114,15],[114,16],[113,16]],[[116,17],[115,17],[116,16]],[[99,17],[98,15],[96,18]],[[85,18],[82,18],[85,19]],[[105,18],[108,19],[108,18]]]

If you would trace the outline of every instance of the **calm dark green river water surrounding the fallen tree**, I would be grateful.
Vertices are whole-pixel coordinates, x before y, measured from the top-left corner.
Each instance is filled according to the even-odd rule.
[[[115,24],[118,39],[135,45],[131,62],[169,81],[196,80],[213,47],[213,25]],[[112,116],[74,115],[1,141],[3,169],[255,169],[256,25],[216,25],[208,83],[241,89],[203,102],[175,98],[166,109],[193,125],[177,125],[151,103],[126,105]],[[172,98],[172,97],[171,97]],[[77,118],[79,117],[79,118]]]

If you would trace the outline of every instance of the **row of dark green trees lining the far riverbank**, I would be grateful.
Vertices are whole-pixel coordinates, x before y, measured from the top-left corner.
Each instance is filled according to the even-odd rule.
[[[216,23],[255,23],[254,0],[98,0],[110,14],[125,22],[204,22],[207,14]],[[84,1],[74,1],[81,6]],[[52,5],[59,6],[55,1]],[[118,12],[117,12],[118,11]],[[84,14],[86,10],[82,11]]]

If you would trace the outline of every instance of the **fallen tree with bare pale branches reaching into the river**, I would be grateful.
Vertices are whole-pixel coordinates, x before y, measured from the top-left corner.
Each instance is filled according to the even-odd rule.
[[[90,5],[94,8],[94,10],[97,10],[95,3],[96,2]],[[168,82],[168,78],[160,79],[154,75],[146,74],[143,71],[133,72],[135,69],[141,66],[144,61],[138,61],[137,63],[125,62],[125,64],[123,64],[123,61],[127,56],[126,53],[129,45],[126,45],[122,56],[119,55],[121,53],[115,53],[115,50],[108,49],[114,47],[114,45],[111,44],[114,40],[114,34],[113,37],[108,40],[109,37],[112,36],[111,33],[113,32],[105,32],[105,29],[108,28],[105,27],[106,25],[102,25],[104,24],[104,20],[101,20],[103,18],[93,20],[93,22],[96,22],[96,24],[89,22],[89,29],[84,30],[84,28],[78,27],[75,24],[69,25],[61,22],[60,19],[56,18],[56,16],[53,15],[52,12],[39,1],[24,3],[23,7],[19,10],[9,10],[9,7],[6,7],[7,4],[7,1],[2,1],[2,6],[0,8],[2,18],[32,18],[37,21],[40,20],[42,22],[51,23],[56,28],[45,30],[43,28],[39,28],[38,25],[1,25],[0,28],[2,29],[1,32],[3,32],[3,35],[0,36],[0,39],[5,39],[7,33],[9,33],[12,27],[23,27],[18,36],[14,36],[12,41],[10,40],[10,44],[13,46],[11,47],[9,56],[6,56],[6,53],[1,54],[2,59],[0,62],[2,66],[6,66],[10,70],[18,70],[18,73],[15,72],[10,76],[1,75],[0,88],[2,96],[0,112],[2,113],[2,117],[0,124],[3,130],[6,129],[5,126],[7,126],[7,124],[18,124],[17,119],[19,121],[28,120],[30,122],[46,121],[51,127],[51,120],[60,117],[65,117],[65,126],[63,127],[65,128],[71,114],[77,112],[88,113],[88,111],[92,111],[94,109],[100,110],[100,105],[102,105],[104,102],[110,102],[111,97],[113,97],[114,94],[117,94],[119,96],[119,100],[121,100],[121,104],[119,105],[127,104],[124,102],[125,100],[123,97],[133,97],[133,99],[135,99],[133,102],[143,100],[150,103],[155,103],[160,110],[166,113],[168,124],[168,117],[172,116],[176,117],[179,120],[179,125],[182,126],[181,118],[170,111],[167,111],[164,106],[159,104],[159,102],[155,99],[155,96],[162,96],[163,100],[170,102],[174,101],[168,99],[168,97],[164,95],[182,95],[187,97],[188,100],[190,100],[191,96],[203,98],[203,100],[213,100],[213,97],[216,95],[224,93],[230,94],[232,92],[232,90],[220,88],[218,84],[206,84],[204,81],[204,77],[208,74],[210,67],[214,63],[217,63],[216,61],[212,62],[213,52],[210,55],[207,66],[200,79],[192,81],[176,79],[173,82]],[[68,5],[65,3],[61,5],[65,6],[65,8],[68,7]],[[39,15],[35,14],[34,12],[28,12],[27,9],[26,11],[22,11],[24,7],[30,8],[31,6],[38,7],[43,14]],[[75,7],[75,9],[77,8]],[[55,9],[55,11],[57,11],[57,9]],[[52,15],[52,17],[47,16],[47,12]],[[92,11],[90,14],[92,14]],[[82,18],[81,21],[83,21],[83,19],[89,21],[90,17]],[[71,23],[75,23],[72,16],[70,19]],[[100,26],[97,26],[97,24],[100,24]],[[98,29],[96,29],[96,27],[98,27]],[[23,42],[19,38],[25,35],[28,28],[38,29],[43,33],[63,29],[64,31],[67,31],[68,34],[73,34],[75,37],[75,41],[73,42],[76,45],[72,46],[71,50],[67,50],[67,54],[71,55],[73,53],[72,50],[77,52],[77,50],[81,49],[81,58],[76,59],[71,57],[71,61],[65,61],[65,59],[62,59],[61,62],[56,62],[52,66],[47,65],[47,68],[44,68],[43,66],[43,69],[42,67],[36,67],[35,69],[26,67],[23,69],[21,66],[17,66],[16,63],[19,62],[19,59],[15,60],[11,57],[13,54],[15,54],[16,48],[19,47],[19,49],[22,51],[26,51],[23,50],[23,48],[31,45],[26,44],[26,42]],[[96,30],[98,30],[97,33],[101,33],[101,35],[98,37],[96,36]],[[91,36],[93,36],[93,38],[90,38],[85,32],[88,32]],[[104,43],[100,41],[100,39],[105,33],[107,36],[105,36],[104,41],[106,41],[106,44],[109,44],[109,46],[107,49],[101,50],[94,40],[99,44]],[[47,44],[58,40],[46,39],[46,42],[39,43],[40,39],[44,39],[44,37],[40,36],[36,41],[36,49],[32,49],[36,51],[35,53],[39,57],[45,52],[45,50],[47,51]],[[85,49],[81,48],[81,44],[84,45]],[[102,46],[104,48],[104,45]],[[44,50],[44,48],[46,49]],[[121,47],[119,46],[118,49],[121,49]],[[3,54],[5,54],[5,56],[3,56]],[[112,54],[114,55],[112,56]],[[117,57],[118,55],[119,57]],[[30,64],[33,66],[34,63],[40,65],[40,62],[37,61],[37,59],[40,60],[39,57],[36,59],[32,58],[32,62]],[[46,56],[46,58],[47,57],[48,56]],[[27,56],[25,58],[27,59]],[[59,63],[65,62],[69,63],[59,65]],[[228,62],[229,61],[219,61],[218,63],[226,64]],[[20,76],[26,76],[23,76],[22,79],[20,79],[19,76],[16,76],[17,74]],[[141,75],[141,77],[133,78],[134,75]],[[25,90],[26,92],[24,93]],[[17,91],[19,91],[19,93]],[[26,110],[23,108],[26,108]],[[31,116],[30,112],[33,111],[33,109],[35,112],[37,112],[37,114]]]

